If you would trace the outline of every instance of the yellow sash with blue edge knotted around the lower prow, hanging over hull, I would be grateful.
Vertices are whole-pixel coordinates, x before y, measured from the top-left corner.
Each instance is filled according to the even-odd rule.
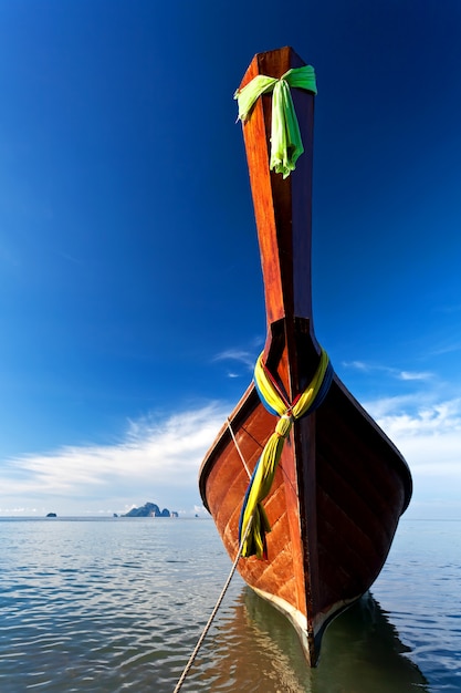
[[[262,361],[262,354],[254,369],[254,383],[261,402],[280,416],[274,433],[269,438],[254,468],[243,499],[240,514],[239,544],[244,537],[248,524],[253,517],[250,531],[242,547],[242,557],[266,557],[265,535],[271,531],[262,501],[271,490],[275,470],[282,455],[283,445],[290,435],[293,422],[313,412],[325,399],[333,377],[333,368],[327,353],[322,349],[321,360],[312,382],[292,404],[290,404]]]

